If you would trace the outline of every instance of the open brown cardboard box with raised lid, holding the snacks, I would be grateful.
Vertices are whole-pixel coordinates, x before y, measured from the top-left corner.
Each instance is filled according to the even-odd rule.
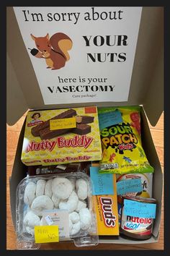
[[[99,242],[112,244],[142,244],[158,242],[161,221],[161,198],[163,188],[163,174],[158,155],[153,145],[151,132],[146,116],[152,125],[156,125],[164,110],[164,8],[143,7],[138,43],[135,51],[133,74],[130,82],[130,94],[125,102],[98,102],[94,106],[143,106],[141,112],[141,130],[143,149],[148,161],[154,168],[153,198],[156,199],[156,221],[153,226],[153,236],[145,241],[134,241],[115,236],[99,236]],[[33,96],[32,96],[33,92]],[[19,102],[19,103],[18,103]],[[22,36],[17,25],[12,7],[7,8],[7,122],[14,124],[28,108],[51,109],[82,106],[81,103],[63,103],[44,105],[40,88],[37,84],[34,69],[27,56]],[[84,106],[91,106],[86,103]],[[17,184],[26,175],[26,168],[20,161],[24,126],[19,136],[17,153],[14,160],[10,179],[10,200],[12,219],[15,226],[15,200]]]

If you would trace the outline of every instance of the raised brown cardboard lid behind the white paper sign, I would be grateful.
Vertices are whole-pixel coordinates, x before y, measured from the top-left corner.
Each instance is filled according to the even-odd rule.
[[[164,8],[143,7],[133,64],[128,101],[84,103],[86,106],[143,105],[149,121],[155,125],[164,110],[163,98]],[[12,7],[7,7],[7,123],[14,124],[27,108],[67,108],[70,104],[44,105],[30,57],[22,40]],[[22,96],[23,95],[23,96]],[[82,106],[71,104],[72,107]]]

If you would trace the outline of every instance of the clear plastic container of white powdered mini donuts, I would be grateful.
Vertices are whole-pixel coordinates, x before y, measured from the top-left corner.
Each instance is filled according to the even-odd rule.
[[[59,242],[72,240],[76,247],[97,245],[91,187],[90,177],[80,171],[22,179],[16,199],[17,248],[39,249],[34,228],[50,225],[58,226]]]

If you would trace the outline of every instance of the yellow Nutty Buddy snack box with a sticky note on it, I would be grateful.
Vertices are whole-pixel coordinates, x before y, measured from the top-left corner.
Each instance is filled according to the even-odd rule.
[[[25,165],[101,159],[96,106],[28,112],[21,156]]]

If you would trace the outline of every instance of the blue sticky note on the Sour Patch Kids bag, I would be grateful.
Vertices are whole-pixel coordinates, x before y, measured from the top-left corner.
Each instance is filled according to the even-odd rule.
[[[122,123],[122,114],[119,110],[99,113],[99,129]]]

